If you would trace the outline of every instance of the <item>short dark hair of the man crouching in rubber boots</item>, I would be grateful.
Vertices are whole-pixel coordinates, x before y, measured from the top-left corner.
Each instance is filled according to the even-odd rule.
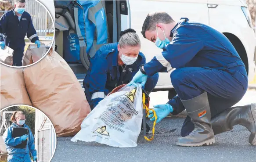
[[[145,32],[148,30],[150,31],[155,30],[156,24],[158,23],[169,24],[171,22],[174,22],[174,20],[166,12],[149,13],[142,25],[141,34],[144,36],[144,38],[146,38]]]

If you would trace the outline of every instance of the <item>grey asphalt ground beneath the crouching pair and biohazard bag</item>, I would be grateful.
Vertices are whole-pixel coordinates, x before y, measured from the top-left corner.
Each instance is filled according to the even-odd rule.
[[[150,96],[152,104],[166,100],[166,92],[155,92]],[[255,99],[256,91],[248,91],[236,105],[256,102]],[[96,142],[74,143],[70,141],[72,137],[58,137],[51,162],[256,162],[256,146],[248,142],[250,132],[240,125],[216,135],[216,143],[210,146],[176,146],[183,121],[184,118],[176,117],[163,119],[156,125],[157,131],[177,130],[155,134],[152,141],[140,135],[135,148],[115,148]],[[152,122],[148,121],[148,124]]]

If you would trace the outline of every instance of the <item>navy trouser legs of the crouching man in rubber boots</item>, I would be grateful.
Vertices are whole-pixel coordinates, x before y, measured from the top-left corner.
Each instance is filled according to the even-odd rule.
[[[170,77],[178,94],[168,102],[174,108],[174,115],[185,109],[181,100],[197,97],[206,91],[213,118],[238,103],[248,87],[244,66],[225,70],[208,67],[179,68],[174,70]],[[187,136],[192,130],[194,130],[194,124],[187,116],[181,129],[181,136]]]

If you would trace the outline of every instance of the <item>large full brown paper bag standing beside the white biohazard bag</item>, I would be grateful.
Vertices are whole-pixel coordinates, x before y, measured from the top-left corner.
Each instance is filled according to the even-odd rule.
[[[54,125],[57,137],[72,136],[90,112],[84,91],[69,65],[55,51],[25,68],[32,104]]]

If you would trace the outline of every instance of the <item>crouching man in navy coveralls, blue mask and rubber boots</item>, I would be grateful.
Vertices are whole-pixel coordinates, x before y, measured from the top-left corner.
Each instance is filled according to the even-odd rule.
[[[231,108],[244,96],[248,77],[226,36],[187,18],[174,22],[165,12],[148,14],[141,33],[163,51],[142,66],[128,85],[143,85],[148,76],[176,68],[170,77],[177,96],[154,107],[157,122],[169,113],[187,110],[177,145],[213,144],[214,134],[237,124],[251,132],[249,143],[256,145],[256,104]],[[150,113],[149,118],[153,116]]]

